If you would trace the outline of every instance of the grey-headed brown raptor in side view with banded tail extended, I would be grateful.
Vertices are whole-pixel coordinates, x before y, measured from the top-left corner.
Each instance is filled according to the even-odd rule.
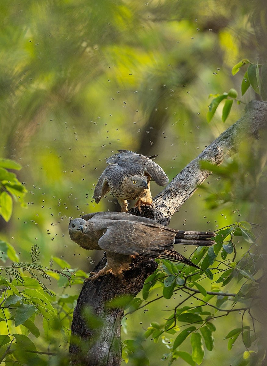
[[[84,249],[105,250],[107,264],[91,272],[95,280],[110,272],[122,276],[136,255],[163,258],[199,268],[175,251],[174,244],[210,246],[213,232],[174,230],[146,217],[126,212],[96,212],[70,221],[70,238]]]

